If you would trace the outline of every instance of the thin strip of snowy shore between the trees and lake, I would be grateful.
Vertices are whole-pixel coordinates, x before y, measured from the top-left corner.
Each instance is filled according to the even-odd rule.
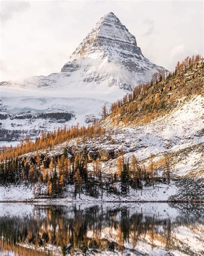
[[[116,184],[117,185],[117,184]],[[119,187],[118,187],[119,189]],[[42,189],[43,190],[43,189]],[[56,199],[35,199],[32,186],[25,185],[10,185],[10,186],[0,186],[0,202],[9,201],[34,201],[34,202],[140,202],[140,201],[168,201],[169,197],[175,195],[178,188],[172,182],[170,185],[158,184],[153,187],[144,187],[143,190],[136,190],[130,188],[130,194],[127,197],[117,194],[108,193],[103,191],[103,196],[101,197],[101,191],[99,191],[98,197],[94,198],[87,193],[77,194],[74,197],[74,186],[69,185],[67,191],[64,193],[64,198]]]

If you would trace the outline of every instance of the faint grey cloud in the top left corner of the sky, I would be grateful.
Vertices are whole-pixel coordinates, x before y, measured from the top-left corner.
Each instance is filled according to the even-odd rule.
[[[12,19],[15,13],[21,13],[30,7],[30,3],[25,1],[2,1],[0,20],[2,23]]]

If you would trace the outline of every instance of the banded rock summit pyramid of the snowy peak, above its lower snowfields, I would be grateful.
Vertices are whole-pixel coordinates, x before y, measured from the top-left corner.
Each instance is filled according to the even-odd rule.
[[[146,59],[137,46],[136,38],[121,24],[114,13],[103,16],[96,27],[71,55],[71,60],[80,57],[97,59],[120,64],[128,71],[144,72],[151,69],[163,69]]]

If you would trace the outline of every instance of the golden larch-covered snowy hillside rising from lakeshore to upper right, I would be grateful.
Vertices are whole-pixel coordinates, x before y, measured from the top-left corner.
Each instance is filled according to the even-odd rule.
[[[186,183],[191,185],[193,182],[199,187],[200,180],[187,179],[193,175],[200,177],[203,173],[200,159],[202,134],[199,134],[200,116],[198,116],[203,96],[202,79],[203,59],[199,55],[188,57],[182,63],[178,62],[175,71],[169,73],[167,77],[164,72],[157,73],[151,83],[136,86],[133,93],[112,104],[110,113],[104,106],[103,119],[99,123],[94,121],[88,128],[79,125],[65,127],[46,134],[42,131],[41,137],[36,141],[26,138],[17,147],[3,147],[0,155],[0,185],[24,184],[32,189],[34,198],[64,198],[68,192],[71,192],[72,200],[80,196],[83,199],[86,196],[93,197],[95,200],[97,198],[110,200],[113,196],[115,200],[122,200],[130,199],[130,195],[133,194],[138,196],[141,194],[140,199],[147,200],[149,195],[144,197],[143,193],[142,197],[142,191],[145,189],[155,192],[155,188],[161,184],[164,184],[163,188],[172,184],[174,193],[177,192],[178,186],[183,185],[184,180],[185,187]],[[138,131],[142,132],[147,127],[153,129],[154,125],[156,129],[152,131],[156,135],[153,135],[158,136],[157,129],[162,125],[162,118],[163,125],[171,128],[173,126],[171,120],[173,122],[174,119],[168,118],[174,118],[175,115],[180,118],[185,115],[186,112],[182,112],[182,108],[185,110],[186,106],[197,111],[194,113],[194,118],[198,119],[196,119],[198,130],[193,131],[197,133],[197,137],[193,135],[190,140],[185,138],[188,140],[185,143],[181,137],[174,139],[174,149],[170,147],[172,138],[169,139],[168,147],[166,147],[167,140],[159,141],[156,138],[154,142],[156,146],[152,148],[152,138],[148,139],[148,134],[145,133],[142,139],[136,137]],[[186,123],[183,122],[183,125]],[[134,130],[137,128],[140,130]],[[177,125],[176,128],[178,129],[179,126]],[[191,133],[190,130],[189,134]],[[133,149],[130,142],[134,142]],[[148,143],[151,147],[147,146]],[[147,147],[148,152],[145,151]],[[140,148],[143,151],[140,152]],[[181,180],[178,175],[175,176],[175,166],[178,160],[182,162],[186,154],[192,152],[195,153],[195,158],[198,158],[197,169],[189,169],[189,173],[193,170],[191,176],[187,173],[185,179]],[[179,168],[181,166],[177,169]],[[198,170],[199,173],[196,173]],[[161,193],[157,195],[161,196],[158,200],[169,199]],[[182,198],[200,200],[197,194],[191,197],[182,196],[179,200]],[[136,197],[134,199],[136,200]]]

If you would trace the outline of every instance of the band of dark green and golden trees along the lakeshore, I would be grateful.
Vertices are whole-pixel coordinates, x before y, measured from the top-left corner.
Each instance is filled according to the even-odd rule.
[[[73,157],[68,157],[67,147],[60,157],[40,158],[36,153],[35,158],[27,159],[15,157],[6,159],[0,164],[0,185],[27,184],[33,186],[33,194],[36,198],[64,197],[69,189],[72,197],[80,198],[86,193],[93,197],[103,199],[104,194],[108,196],[114,193],[127,197],[130,187],[138,192],[143,186],[153,186],[155,182],[170,183],[170,158],[165,155],[160,163],[154,163],[153,157],[149,159],[148,166],[141,166],[133,155],[129,160],[124,160],[123,150],[117,160],[117,171],[114,173],[110,167],[110,174],[102,172],[99,159],[94,160],[88,167],[88,151],[83,148],[81,154],[72,152]],[[46,159],[46,160],[45,160]],[[46,164],[43,164],[43,161]],[[162,175],[158,175],[158,169],[163,166]],[[73,186],[71,186],[73,185]],[[70,192],[70,191],[69,191]]]

